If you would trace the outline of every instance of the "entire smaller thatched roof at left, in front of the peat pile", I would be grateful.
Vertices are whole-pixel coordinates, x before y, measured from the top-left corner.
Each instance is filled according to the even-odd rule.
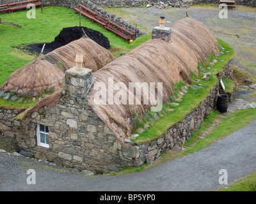
[[[84,57],[84,67],[97,71],[115,57],[90,38],[81,38],[57,48],[49,54],[40,54],[35,60],[18,69],[8,77],[1,90],[16,91],[19,96],[40,96],[42,90],[54,91],[63,87],[65,70],[76,66],[76,54]],[[4,89],[5,87],[5,89]],[[20,91],[22,90],[22,91]],[[19,91],[19,92],[18,92]]]

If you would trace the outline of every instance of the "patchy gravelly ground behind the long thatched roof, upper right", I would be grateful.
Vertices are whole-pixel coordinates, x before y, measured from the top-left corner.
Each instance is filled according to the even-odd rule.
[[[256,76],[256,8],[236,6],[228,10],[228,18],[221,19],[221,9],[213,6],[190,6],[188,9],[169,8],[110,8],[109,12],[123,17],[125,20],[138,24],[147,31],[159,25],[159,17],[165,16],[167,25],[186,17],[193,17],[206,25],[221,40],[227,41],[236,52],[236,66]]]

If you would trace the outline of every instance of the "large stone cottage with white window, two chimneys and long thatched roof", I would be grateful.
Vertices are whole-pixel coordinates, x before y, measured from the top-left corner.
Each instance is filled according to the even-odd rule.
[[[156,27],[154,39],[92,73],[92,69],[65,72],[65,87],[42,99],[26,111],[22,120],[14,120],[9,132],[20,149],[38,159],[95,173],[120,171],[124,166],[140,166],[165,150],[184,143],[197,129],[216,103],[219,84],[200,106],[184,120],[170,127],[166,135],[138,145],[129,140],[134,114],[139,118],[152,104],[97,104],[95,84],[106,85],[109,78],[122,82],[161,82],[163,101],[172,95],[175,82],[189,84],[191,71],[197,73],[198,61],[211,52],[220,52],[213,34],[193,18],[183,18],[171,27]],[[166,40],[167,39],[167,40]],[[231,77],[232,61],[221,75]],[[114,89],[113,94],[120,91]],[[154,89],[157,93],[157,88]],[[134,99],[136,99],[136,93]],[[145,94],[145,92],[143,92]],[[124,95],[122,95],[124,96]],[[127,99],[128,100],[128,99]]]

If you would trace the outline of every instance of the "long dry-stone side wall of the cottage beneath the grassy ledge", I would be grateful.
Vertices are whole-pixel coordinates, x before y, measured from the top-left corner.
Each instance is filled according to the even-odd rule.
[[[199,128],[201,122],[211,113],[212,108],[216,106],[220,90],[220,79],[222,77],[233,78],[233,63],[233,59],[227,63],[218,76],[218,84],[214,86],[209,96],[207,96],[193,112],[186,115],[181,122],[168,128],[165,135],[160,136],[152,142],[136,145],[136,147],[140,149],[140,154],[134,160],[134,166],[140,166],[146,161],[154,161],[163,154],[163,152],[173,147],[179,147],[184,144],[186,140],[191,138],[191,133]]]

